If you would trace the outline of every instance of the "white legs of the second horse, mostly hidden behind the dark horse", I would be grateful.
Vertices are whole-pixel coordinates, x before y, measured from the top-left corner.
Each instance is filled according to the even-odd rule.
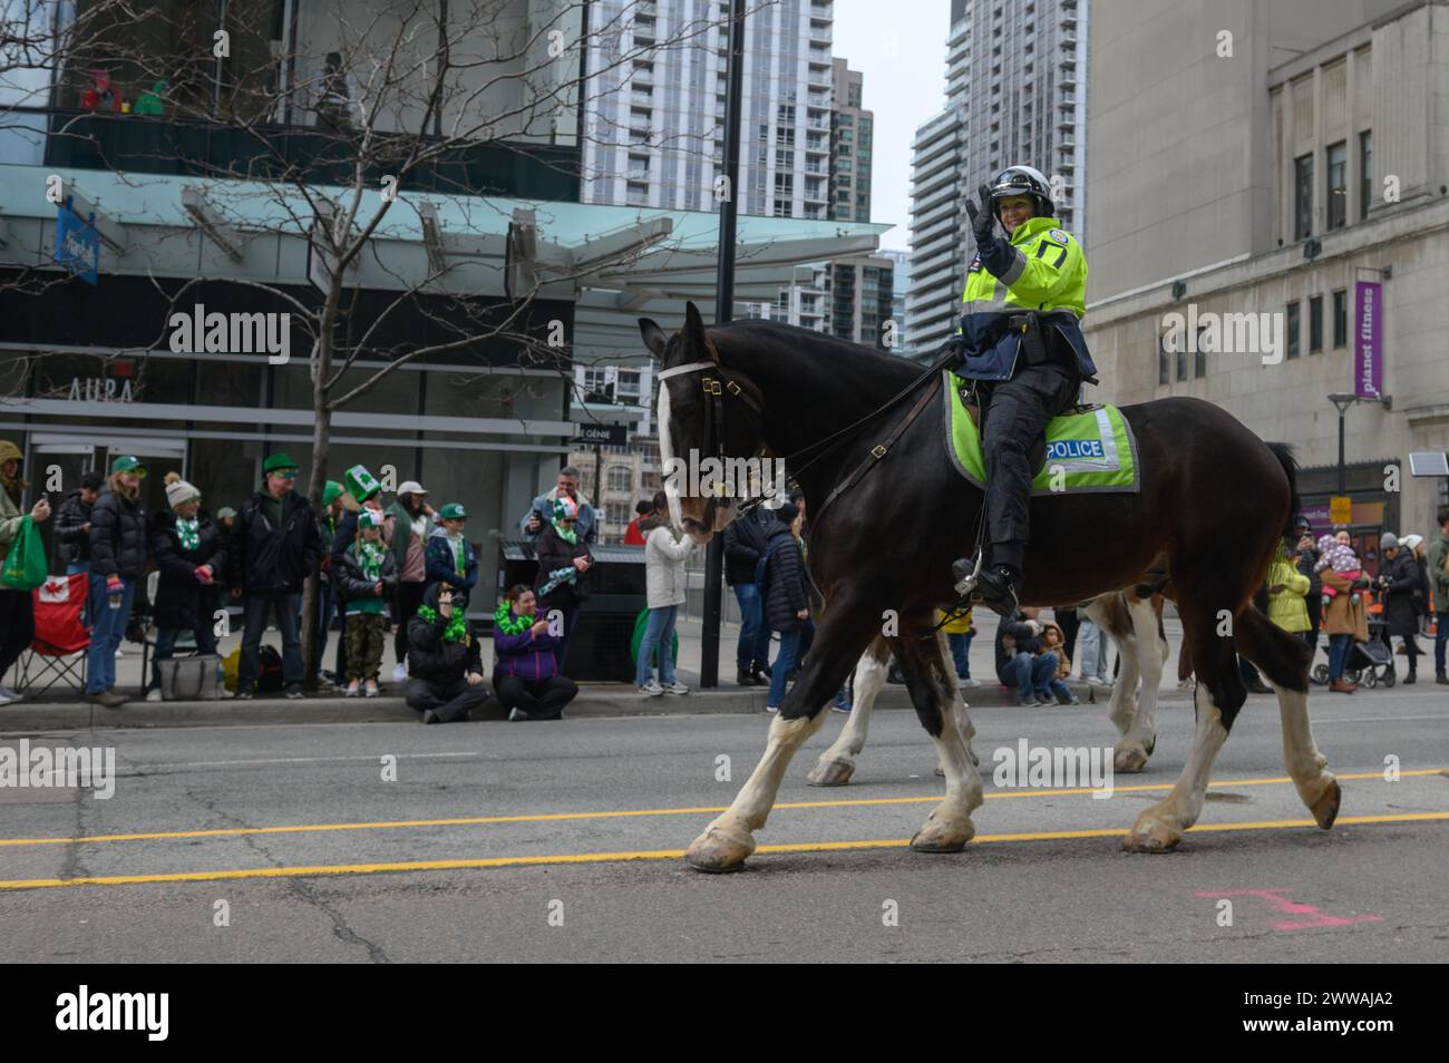
[[[1161,600],[1137,597],[1136,591],[1104,594],[1082,607],[1088,618],[1111,637],[1122,657],[1122,675],[1113,685],[1107,718],[1122,734],[1113,750],[1113,770],[1129,775],[1146,766],[1156,744],[1158,684],[1162,682],[1162,665],[1169,653],[1161,629]],[[949,649],[945,644],[942,653],[948,655],[949,662]],[[851,713],[840,736],[820,753],[814,768],[806,773],[806,782],[811,786],[845,786],[851,782],[858,757],[865,749],[875,698],[885,685],[890,659],[890,646],[884,637],[875,639],[861,655],[851,688]],[[1140,699],[1136,689],[1139,676]],[[964,714],[966,705],[959,694],[955,701]],[[972,728],[966,736],[968,747],[974,734]],[[980,763],[974,753],[972,763]],[[943,773],[943,769],[938,766],[936,773]]]

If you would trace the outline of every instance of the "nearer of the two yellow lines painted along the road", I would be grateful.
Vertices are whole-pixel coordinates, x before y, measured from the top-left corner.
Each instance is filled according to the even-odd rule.
[[[1446,812],[1400,812],[1395,815],[1340,815],[1343,825],[1381,823],[1427,823],[1449,820]],[[1336,824],[1337,825],[1337,824]],[[1265,820],[1262,823],[1214,823],[1193,827],[1191,834],[1207,834],[1226,830],[1282,830],[1293,827],[1317,827],[1313,820]],[[1052,830],[1024,834],[981,834],[982,841],[1058,841],[1064,839],[1107,839],[1122,837],[1126,828],[1106,830]],[[884,839],[872,841],[798,841],[778,846],[761,846],[764,853],[833,853],[859,849],[904,849],[910,839]],[[317,875],[378,875],[383,872],[416,870],[474,870],[484,867],[527,867],[539,865],[571,863],[623,863],[627,860],[677,860],[682,849],[652,849],[625,853],[562,853],[556,856],[493,856],[468,860],[400,860],[393,863],[342,863],[296,867],[238,867],[229,870],[191,870],[167,875],[101,875],[83,879],[13,879],[0,881],[0,889],[49,889],[55,886],[129,886],[158,882],[217,882],[226,879],[290,879]]]

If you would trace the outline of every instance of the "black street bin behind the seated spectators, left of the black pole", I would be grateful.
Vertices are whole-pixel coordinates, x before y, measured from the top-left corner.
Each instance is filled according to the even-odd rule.
[[[564,675],[569,679],[633,682],[629,652],[635,620],[645,608],[642,546],[591,546],[588,600],[578,611],[568,639]],[[523,539],[498,543],[498,594],[514,584],[533,587],[538,576],[533,545]],[[488,630],[493,627],[488,624]]]

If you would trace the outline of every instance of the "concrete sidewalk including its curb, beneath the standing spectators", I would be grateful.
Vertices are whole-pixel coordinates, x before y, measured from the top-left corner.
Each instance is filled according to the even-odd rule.
[[[978,611],[978,634],[971,644],[969,660],[972,675],[981,681],[980,686],[966,688],[962,695],[968,705],[1013,705],[1016,692],[1003,686],[993,675],[993,644],[995,639],[997,617],[993,613]],[[1168,643],[1172,656],[1168,659],[1162,675],[1159,697],[1169,701],[1187,699],[1187,692],[1177,689],[1177,650],[1181,642],[1181,624],[1175,618],[1165,623]],[[688,695],[640,695],[632,684],[581,684],[580,695],[569,704],[567,714],[578,717],[627,717],[627,715],[678,715],[678,714],[709,714],[709,713],[759,713],[765,711],[768,688],[765,686],[736,686],[733,684],[735,643],[739,637],[739,627],[724,624],[720,639],[720,686],[701,689],[700,679],[700,623],[697,620],[682,620],[680,623],[680,660],[677,676],[691,688]],[[336,633],[332,634],[336,639]],[[241,634],[232,634],[222,640],[220,652],[225,656],[241,640]],[[278,644],[277,633],[268,631],[265,642]],[[326,662],[332,662],[329,643]],[[483,643],[483,660],[485,672],[491,673],[493,644],[491,640]],[[93,707],[83,697],[59,686],[39,695],[28,695],[25,701],[0,707],[0,733],[36,731],[36,730],[87,730],[106,727],[214,727],[239,724],[332,724],[332,723],[398,723],[414,721],[417,714],[403,702],[397,685],[390,682],[393,675],[391,639],[387,640],[383,656],[383,695],[377,698],[343,698],[333,692],[309,697],[304,701],[287,701],[281,695],[258,697],[252,701],[235,701],[225,695],[219,701],[200,702],[148,702],[141,699],[141,647],[135,643],[122,644],[122,656],[116,660],[116,688],[133,699],[119,710]],[[1108,668],[1108,675],[1110,675]],[[14,682],[14,672],[9,682]],[[1069,682],[1068,686],[1082,702],[1104,702],[1110,697],[1110,688],[1091,686],[1085,682]],[[911,708],[906,688],[887,684],[877,699],[877,707],[884,710]],[[1051,707],[1046,707],[1048,710]],[[1023,710],[1030,711],[1030,710]],[[478,717],[475,717],[478,718]],[[497,717],[497,718],[501,718]]]

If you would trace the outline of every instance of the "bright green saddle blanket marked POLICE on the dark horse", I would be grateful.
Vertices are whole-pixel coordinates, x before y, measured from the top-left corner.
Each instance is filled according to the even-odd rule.
[[[987,469],[981,433],[961,398],[966,381],[946,374],[946,450],[956,471],[985,488]],[[990,416],[990,414],[988,414]],[[1114,406],[1097,406],[1046,423],[1046,453],[1032,479],[1033,495],[1084,491],[1136,494],[1142,490],[1137,439]]]

